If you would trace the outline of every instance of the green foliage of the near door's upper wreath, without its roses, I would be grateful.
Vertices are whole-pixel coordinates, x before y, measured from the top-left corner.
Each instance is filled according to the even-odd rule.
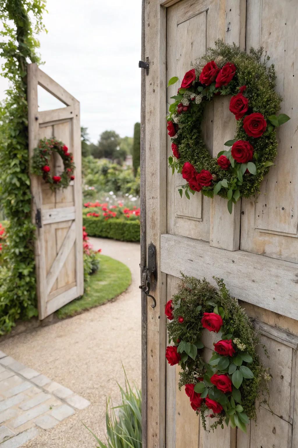
[[[211,186],[205,186],[201,193],[212,198],[214,194],[218,194],[222,198],[227,198],[230,202],[229,211],[231,212],[232,202],[239,200],[241,196],[249,198],[259,192],[260,183],[264,175],[268,172],[269,166],[273,165],[273,161],[277,155],[277,137],[276,129],[283,124],[289,117],[281,114],[277,117],[274,114],[278,112],[281,105],[281,96],[274,91],[276,85],[276,75],[274,65],[267,67],[269,56],[262,60],[264,49],[261,47],[258,50],[250,49],[249,54],[241,51],[235,44],[228,45],[222,40],[215,42],[215,48],[209,48],[206,55],[202,56],[197,64],[194,65],[196,73],[196,82],[188,89],[179,89],[179,93],[172,98],[175,102],[169,107],[169,115],[167,120],[175,121],[177,116],[177,106],[182,101],[183,95],[186,91],[191,91],[195,94],[202,95],[201,103],[196,104],[195,101],[190,102],[190,109],[188,112],[179,115],[179,128],[176,138],[171,141],[178,146],[180,158],[175,159],[169,157],[169,165],[174,174],[175,169],[181,172],[185,162],[191,163],[197,172],[202,169],[209,170],[216,175],[216,181]],[[215,82],[210,86],[202,86],[198,82],[199,75],[202,68],[208,62],[214,60],[219,68],[222,68],[227,62],[231,62],[236,66],[236,73],[234,78],[227,86],[215,88]],[[171,78],[169,85],[175,83],[178,78]],[[231,146],[237,140],[248,141],[254,147],[254,164],[256,173],[251,174],[246,172],[247,164],[236,163],[231,157],[231,151],[221,151],[218,155],[226,155],[232,165],[228,171],[222,170],[217,164],[217,158],[212,158],[206,145],[201,137],[201,122],[204,116],[206,104],[209,103],[214,95],[236,95],[239,93],[241,86],[246,86],[245,96],[249,101],[249,110],[246,115],[252,112],[259,112],[267,121],[267,129],[265,133],[259,138],[249,137],[243,129],[242,119],[237,121],[236,134],[234,140],[227,142],[227,146]],[[283,121],[283,116],[285,121]],[[280,118],[278,120],[278,118]],[[231,139],[233,136],[231,135]],[[222,148],[224,149],[224,148]],[[240,172],[240,174],[239,174]],[[217,189],[214,187],[219,183]],[[222,188],[223,187],[223,188]],[[189,193],[194,194],[194,191],[189,188],[189,185],[181,185],[180,195],[182,196],[182,188],[185,189],[185,195],[189,198]],[[231,190],[230,193],[228,191]],[[237,191],[237,192],[236,192]],[[232,194],[232,197],[230,197]]]

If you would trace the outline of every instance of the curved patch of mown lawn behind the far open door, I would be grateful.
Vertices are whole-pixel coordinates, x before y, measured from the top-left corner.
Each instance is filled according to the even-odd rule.
[[[103,305],[129,287],[131,273],[125,264],[106,255],[99,255],[99,259],[99,270],[90,277],[84,295],[56,311],[59,319],[80,314],[94,306]]]

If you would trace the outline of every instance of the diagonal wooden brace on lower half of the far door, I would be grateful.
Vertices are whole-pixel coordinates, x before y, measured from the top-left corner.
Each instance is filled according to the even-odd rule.
[[[58,277],[60,270],[65,263],[65,260],[71,251],[74,242],[76,241],[76,221],[71,223],[70,228],[64,238],[64,241],[60,247],[60,250],[57,254],[57,257],[54,260],[54,263],[50,267],[50,271],[46,276],[46,293],[49,294],[52,289],[53,284],[55,283],[56,278]]]

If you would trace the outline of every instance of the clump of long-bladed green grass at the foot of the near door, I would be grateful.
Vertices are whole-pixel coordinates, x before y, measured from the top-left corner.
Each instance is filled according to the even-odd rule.
[[[111,398],[107,402],[105,422],[107,428],[107,445],[91,432],[99,443],[97,448],[142,448],[142,396],[134,385],[130,387],[126,373],[125,389],[118,384],[122,396],[122,405],[113,407]],[[119,409],[118,418],[115,409]]]

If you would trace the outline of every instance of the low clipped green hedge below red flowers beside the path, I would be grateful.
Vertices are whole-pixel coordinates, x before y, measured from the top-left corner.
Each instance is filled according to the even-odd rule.
[[[83,215],[83,225],[89,237],[111,238],[120,241],[140,241],[139,220],[101,220]]]

